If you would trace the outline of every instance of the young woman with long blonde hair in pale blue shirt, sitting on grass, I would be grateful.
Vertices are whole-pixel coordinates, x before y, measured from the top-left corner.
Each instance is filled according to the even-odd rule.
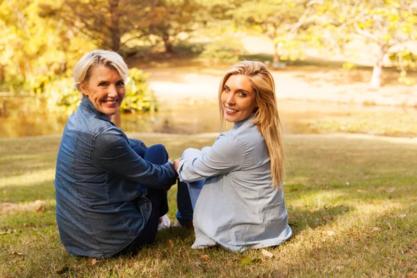
[[[221,245],[243,251],[279,245],[292,231],[281,187],[281,123],[268,68],[243,61],[227,70],[219,106],[221,120],[234,126],[213,146],[186,149],[174,161],[181,181],[179,224],[194,224],[193,248]]]

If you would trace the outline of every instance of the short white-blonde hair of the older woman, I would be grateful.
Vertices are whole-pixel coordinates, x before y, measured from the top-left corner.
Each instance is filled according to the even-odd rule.
[[[97,65],[103,65],[117,70],[120,77],[126,81],[128,68],[126,63],[124,63],[122,56],[114,51],[103,49],[93,50],[81,57],[81,59],[74,66],[74,85],[76,90],[78,90],[81,95],[83,95],[83,93],[81,92],[80,85],[90,80],[92,69]]]

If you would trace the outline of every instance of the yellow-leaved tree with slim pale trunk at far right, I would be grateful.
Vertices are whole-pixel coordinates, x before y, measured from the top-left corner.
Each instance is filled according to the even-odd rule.
[[[327,2],[327,8],[327,20],[337,27],[334,34],[359,35],[377,48],[370,88],[379,88],[387,56],[392,51],[402,56],[406,43],[416,40],[417,1],[338,0]]]

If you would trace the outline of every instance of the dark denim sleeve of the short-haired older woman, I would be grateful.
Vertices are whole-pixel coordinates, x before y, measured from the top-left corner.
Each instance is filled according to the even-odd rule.
[[[92,163],[100,170],[149,188],[165,189],[176,182],[172,163],[155,165],[143,160],[117,129],[108,129],[95,139]]]

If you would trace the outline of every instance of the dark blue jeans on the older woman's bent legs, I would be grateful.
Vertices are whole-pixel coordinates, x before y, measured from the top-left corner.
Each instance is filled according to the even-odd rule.
[[[134,147],[133,150],[145,161],[156,165],[163,165],[168,160],[168,154],[163,145],[153,145],[147,149],[140,146]],[[145,188],[143,186],[138,186]],[[140,234],[133,240],[133,242],[124,247],[124,249],[114,256],[136,254],[145,245],[149,245],[154,242],[156,231],[158,230],[159,218],[168,212],[168,200],[167,191],[161,189],[147,189],[147,199],[152,203],[152,211],[149,216],[149,220],[145,224],[145,227],[140,231]]]

